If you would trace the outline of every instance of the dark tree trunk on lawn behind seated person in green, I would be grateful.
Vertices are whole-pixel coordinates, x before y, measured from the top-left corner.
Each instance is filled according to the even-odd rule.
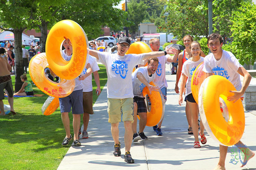
[[[20,76],[24,74],[24,66],[22,59],[22,32],[24,29],[14,29],[14,52],[15,52],[15,92],[21,89],[23,82],[20,80]]]

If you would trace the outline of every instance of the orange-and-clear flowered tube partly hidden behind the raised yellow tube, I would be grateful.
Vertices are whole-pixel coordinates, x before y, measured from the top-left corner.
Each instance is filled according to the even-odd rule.
[[[75,80],[60,79],[60,83],[51,81],[44,73],[48,66],[46,53],[35,55],[29,62],[29,75],[35,85],[49,96],[63,98],[70,95],[75,88]]]

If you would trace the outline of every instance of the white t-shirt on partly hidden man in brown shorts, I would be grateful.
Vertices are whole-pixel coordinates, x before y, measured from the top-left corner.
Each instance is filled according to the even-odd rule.
[[[90,63],[91,69],[93,70],[93,72],[98,71],[99,66],[96,62],[96,58],[92,57],[90,55],[87,55],[87,57],[88,57],[88,63]],[[85,74],[86,71],[87,71],[87,68],[84,69],[82,74]],[[88,77],[86,77],[84,80],[82,80],[83,92],[91,92],[93,90],[93,84],[91,83],[91,81],[92,81],[92,75],[91,74]]]

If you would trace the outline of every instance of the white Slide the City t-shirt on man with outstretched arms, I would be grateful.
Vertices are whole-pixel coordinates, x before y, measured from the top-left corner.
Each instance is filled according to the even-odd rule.
[[[117,54],[98,52],[98,61],[104,64],[107,69],[108,98],[133,98],[131,74],[136,65],[144,63],[144,56],[145,54],[125,54],[125,56],[119,56]]]

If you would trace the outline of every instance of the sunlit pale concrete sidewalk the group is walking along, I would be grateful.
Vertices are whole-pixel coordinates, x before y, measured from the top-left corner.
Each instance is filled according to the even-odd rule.
[[[168,66],[170,67],[170,66]],[[163,136],[157,136],[152,127],[146,126],[144,132],[148,140],[133,143],[131,155],[134,164],[124,161],[124,128],[119,124],[119,139],[121,143],[120,157],[113,155],[114,142],[111,136],[110,123],[107,113],[107,90],[101,92],[93,106],[94,114],[90,116],[88,125],[88,139],[81,139],[81,147],[71,146],[66,156],[61,161],[58,170],[64,169],[138,169],[138,170],[211,170],[219,158],[219,146],[205,132],[207,143],[201,144],[200,149],[195,149],[194,136],[187,134],[187,119],[185,105],[178,105],[178,94],[174,92],[176,75],[166,72],[168,82],[168,96],[165,106],[165,117],[162,124]],[[180,86],[179,86],[180,87]],[[256,112],[253,114],[245,111],[245,132],[241,141],[251,150],[256,152]],[[139,129],[137,125],[137,129]],[[82,137],[82,135],[81,135]],[[227,170],[256,170],[256,156],[240,168],[239,153],[229,151],[226,157]],[[230,160],[235,157],[235,161]],[[237,159],[236,159],[237,158]],[[237,163],[237,164],[235,164]]]

